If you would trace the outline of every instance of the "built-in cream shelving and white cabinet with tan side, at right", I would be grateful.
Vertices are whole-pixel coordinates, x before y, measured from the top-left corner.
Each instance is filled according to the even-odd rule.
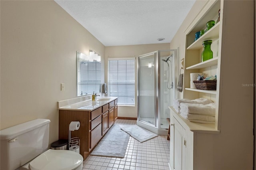
[[[254,31],[253,2],[211,0],[203,3],[200,12],[184,30],[186,44],[185,49],[181,49],[185,54],[184,91],[181,98],[204,97],[214,101],[215,124],[190,122],[169,107],[170,168],[252,169],[253,87],[244,87],[244,84],[254,82],[254,48],[250,45],[254,44],[250,35]],[[208,21],[217,21],[219,10],[220,22],[194,41],[195,33],[206,29]],[[239,11],[239,14],[232,11]],[[244,29],[250,33],[243,34]],[[205,40],[213,42],[213,58],[201,62]],[[216,90],[190,88],[190,73],[217,75]]]

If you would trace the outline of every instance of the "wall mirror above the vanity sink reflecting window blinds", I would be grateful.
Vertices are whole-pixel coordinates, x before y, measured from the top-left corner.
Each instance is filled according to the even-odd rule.
[[[101,63],[100,56],[90,51],[90,56],[76,51],[76,95],[88,95],[100,92]]]

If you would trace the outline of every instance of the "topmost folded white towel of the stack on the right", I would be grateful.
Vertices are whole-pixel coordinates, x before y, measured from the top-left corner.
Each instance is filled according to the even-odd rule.
[[[181,103],[194,103],[194,104],[202,104],[207,105],[209,103],[213,103],[213,101],[205,98],[199,98],[199,99],[174,99],[173,107],[174,109],[179,113],[180,112],[180,104]]]

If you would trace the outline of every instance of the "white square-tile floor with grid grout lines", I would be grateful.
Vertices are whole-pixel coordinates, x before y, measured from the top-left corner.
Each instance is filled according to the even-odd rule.
[[[121,120],[118,125],[136,125],[133,120]],[[169,170],[170,140],[157,136],[140,143],[130,136],[124,158],[89,155],[83,170]]]

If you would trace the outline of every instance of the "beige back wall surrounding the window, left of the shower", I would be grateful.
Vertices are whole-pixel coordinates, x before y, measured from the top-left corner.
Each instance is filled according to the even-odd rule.
[[[169,49],[170,43],[108,46],[105,50],[105,82],[108,81],[108,58],[136,57],[161,49]],[[137,63],[136,63],[137,67]],[[135,81],[135,107],[118,106],[118,117],[137,117],[137,68]]]

